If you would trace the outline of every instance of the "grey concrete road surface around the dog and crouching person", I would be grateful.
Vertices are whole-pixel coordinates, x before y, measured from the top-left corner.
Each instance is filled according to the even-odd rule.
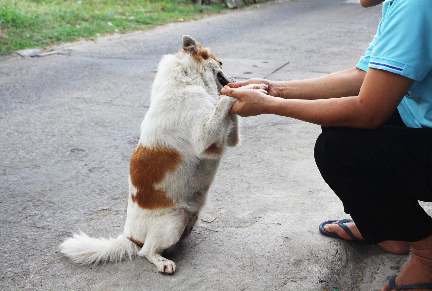
[[[58,251],[78,229],[121,233],[155,68],[183,34],[239,79],[315,77],[356,65],[376,31],[381,6],[344,2],[270,2],[74,44],[70,55],[1,61],[0,289],[380,288],[409,256],[320,235],[321,221],[347,216],[314,164],[320,127],[270,115],[243,119],[243,142],[223,158],[200,222],[168,256],[175,275],[145,259],[77,266]]]

